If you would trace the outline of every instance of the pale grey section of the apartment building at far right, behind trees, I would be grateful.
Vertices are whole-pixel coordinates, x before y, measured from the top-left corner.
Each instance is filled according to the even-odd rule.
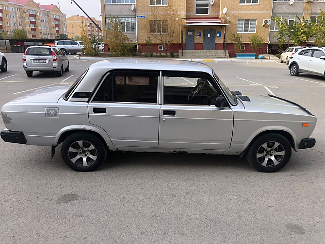
[[[316,21],[316,17],[320,15],[320,9],[325,11],[325,0],[273,0],[272,17],[278,16],[285,19],[288,25],[292,25],[294,21],[300,21],[304,17],[305,21]],[[270,49],[277,48],[276,32],[278,26],[275,21],[271,19],[270,24]],[[312,43],[312,39],[309,43]]]

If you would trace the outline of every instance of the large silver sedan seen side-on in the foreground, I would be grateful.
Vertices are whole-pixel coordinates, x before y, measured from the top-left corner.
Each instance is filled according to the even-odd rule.
[[[292,149],[311,148],[317,118],[283,98],[230,91],[201,63],[121,58],[90,66],[71,87],[50,87],[2,107],[7,142],[63,142],[65,163],[97,169],[108,150],[245,156],[275,172]],[[109,158],[109,157],[108,157]]]

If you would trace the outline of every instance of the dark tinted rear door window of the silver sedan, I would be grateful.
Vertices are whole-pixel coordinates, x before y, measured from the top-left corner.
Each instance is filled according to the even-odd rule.
[[[110,73],[99,87],[93,102],[157,104],[159,72]]]

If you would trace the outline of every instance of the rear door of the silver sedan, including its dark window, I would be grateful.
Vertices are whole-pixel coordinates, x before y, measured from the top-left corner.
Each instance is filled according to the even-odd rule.
[[[117,147],[158,147],[159,71],[115,70],[106,74],[88,105],[89,122]]]

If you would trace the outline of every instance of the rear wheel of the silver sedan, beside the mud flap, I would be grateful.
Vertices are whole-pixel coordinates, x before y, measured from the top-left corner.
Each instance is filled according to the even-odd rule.
[[[65,139],[61,154],[65,164],[71,169],[81,172],[94,171],[105,161],[107,147],[97,136],[77,132]]]

